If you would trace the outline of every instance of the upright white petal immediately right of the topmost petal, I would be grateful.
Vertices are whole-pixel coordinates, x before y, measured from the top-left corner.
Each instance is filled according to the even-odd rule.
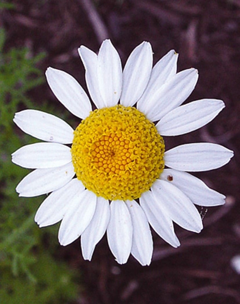
[[[150,78],[153,64],[152,47],[142,42],[130,54],[123,70],[121,104],[132,106],[143,94]]]

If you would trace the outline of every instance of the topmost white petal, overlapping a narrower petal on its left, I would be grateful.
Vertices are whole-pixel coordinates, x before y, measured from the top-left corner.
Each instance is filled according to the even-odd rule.
[[[106,106],[117,105],[122,90],[122,65],[117,50],[109,39],[103,41],[98,53],[97,77]]]

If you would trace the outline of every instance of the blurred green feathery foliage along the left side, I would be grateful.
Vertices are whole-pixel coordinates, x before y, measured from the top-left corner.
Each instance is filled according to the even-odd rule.
[[[18,197],[15,187],[28,170],[11,162],[12,152],[34,142],[12,119],[19,108],[36,108],[26,93],[44,81],[36,67],[44,54],[29,57],[26,48],[4,52],[4,43],[0,29],[0,299],[10,304],[69,303],[79,287],[73,270],[54,258],[57,227],[47,234],[34,223],[44,198]],[[49,112],[47,107],[42,110]]]

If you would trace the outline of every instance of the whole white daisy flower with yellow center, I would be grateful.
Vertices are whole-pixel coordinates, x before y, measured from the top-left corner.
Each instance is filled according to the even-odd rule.
[[[20,181],[19,196],[50,193],[35,221],[40,227],[61,221],[58,239],[66,246],[81,236],[84,259],[91,260],[106,232],[116,261],[132,254],[149,265],[153,253],[150,226],[173,247],[180,242],[174,224],[200,232],[201,216],[194,206],[217,206],[225,196],[186,171],[219,168],[233,152],[214,143],[183,144],[165,151],[162,136],[176,136],[209,123],[225,107],[218,99],[181,105],[193,91],[198,71],[177,73],[178,54],[171,50],[154,67],[150,43],[130,54],[125,67],[110,40],[98,55],[78,49],[86,70],[92,102],[79,83],[49,67],[48,84],[56,98],[75,116],[75,130],[62,119],[27,109],[14,122],[45,142],[12,154],[12,161],[35,169]],[[71,145],[71,147],[69,147]]]

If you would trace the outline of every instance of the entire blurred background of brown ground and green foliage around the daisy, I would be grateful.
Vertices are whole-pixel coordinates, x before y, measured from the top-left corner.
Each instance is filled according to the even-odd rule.
[[[52,66],[72,74],[86,89],[77,48],[98,51],[110,38],[122,63],[135,46],[150,41],[154,62],[170,49],[179,53],[178,71],[195,67],[198,84],[187,102],[224,100],[226,108],[207,126],[165,138],[167,149],[208,141],[234,150],[224,167],[195,174],[226,195],[221,207],[199,208],[200,234],[175,226],[181,247],[154,232],[149,267],[133,257],[114,261],[106,236],[91,262],[79,240],[58,244],[59,225],[39,229],[34,215],[45,196],[19,198],[15,192],[27,169],[11,163],[11,153],[37,140],[12,118],[22,109],[59,116],[75,128],[79,121],[57,101],[44,76]],[[0,1],[0,301],[1,303],[240,303],[239,0],[24,0]]]

